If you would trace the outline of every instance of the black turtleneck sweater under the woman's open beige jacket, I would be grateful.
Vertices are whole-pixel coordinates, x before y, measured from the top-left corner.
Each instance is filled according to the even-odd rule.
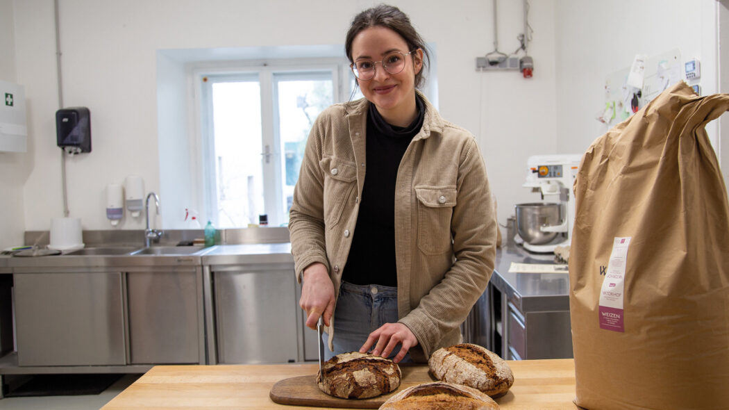
[[[386,123],[373,104],[367,114],[367,171],[359,214],[342,279],[354,285],[397,287],[395,182],[402,155],[423,126],[425,105],[405,128]]]

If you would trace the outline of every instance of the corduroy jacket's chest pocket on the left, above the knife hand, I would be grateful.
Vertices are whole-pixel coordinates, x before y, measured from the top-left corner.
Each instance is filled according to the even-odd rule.
[[[319,161],[324,173],[324,225],[337,225],[351,196],[356,192],[357,172],[351,161],[327,157]]]

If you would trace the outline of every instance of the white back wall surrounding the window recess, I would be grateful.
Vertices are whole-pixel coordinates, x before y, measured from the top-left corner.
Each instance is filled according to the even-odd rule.
[[[517,72],[475,71],[475,57],[493,50],[490,2],[459,1],[448,7],[440,1],[393,3],[408,12],[427,42],[437,45],[442,114],[479,136],[500,203],[515,202],[523,193],[513,188],[521,185],[523,163],[530,153],[523,148],[534,150],[531,153],[555,150],[555,116],[550,108],[552,1],[534,1],[532,6],[532,55],[537,68],[531,80]],[[500,48],[512,51],[522,29],[521,2],[503,3]],[[26,31],[18,36],[17,46],[27,58],[18,60],[17,71],[27,82],[42,84],[55,78],[52,1],[22,4],[15,12],[15,23]],[[82,218],[85,229],[109,228],[104,214],[106,185],[139,174],[147,191],[159,192],[163,164],[157,150],[156,50],[343,42],[354,14],[374,2],[219,0],[207,1],[205,7],[200,4],[60,1],[63,102],[66,107],[89,107],[92,117],[93,152],[67,162],[69,209],[71,216]],[[322,23],[324,9],[326,23]],[[33,98],[50,105],[57,99],[54,86],[32,91]],[[28,230],[48,229],[50,218],[63,212],[57,177],[60,150],[48,139],[55,134],[54,111],[52,107],[31,118],[36,133],[31,136],[35,149],[29,154],[36,165],[25,185],[26,202],[34,204],[27,206],[25,214]],[[531,120],[523,120],[524,112],[531,113]],[[540,136],[536,144],[535,135]],[[162,196],[162,201],[163,212],[178,212],[184,206],[174,204],[175,198]],[[142,225],[143,220],[126,217],[122,228]]]

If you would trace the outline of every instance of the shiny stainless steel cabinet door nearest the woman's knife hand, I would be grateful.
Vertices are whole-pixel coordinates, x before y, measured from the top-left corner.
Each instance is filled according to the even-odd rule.
[[[218,363],[287,363],[297,359],[292,265],[214,270]]]

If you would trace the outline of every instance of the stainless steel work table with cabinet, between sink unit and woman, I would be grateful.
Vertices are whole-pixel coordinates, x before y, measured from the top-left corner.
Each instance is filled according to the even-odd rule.
[[[202,257],[208,363],[305,360],[290,243],[221,245]],[[311,349],[310,349],[311,350]]]

